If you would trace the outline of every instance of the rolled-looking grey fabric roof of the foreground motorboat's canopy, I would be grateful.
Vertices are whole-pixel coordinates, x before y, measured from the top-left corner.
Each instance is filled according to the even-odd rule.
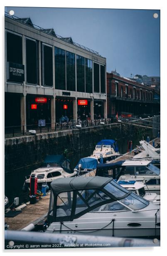
[[[62,192],[69,192],[74,190],[93,190],[93,189],[101,189],[108,182],[113,180],[113,178],[108,177],[69,177],[68,179],[56,179],[51,183],[51,189],[53,193],[59,194]]]

